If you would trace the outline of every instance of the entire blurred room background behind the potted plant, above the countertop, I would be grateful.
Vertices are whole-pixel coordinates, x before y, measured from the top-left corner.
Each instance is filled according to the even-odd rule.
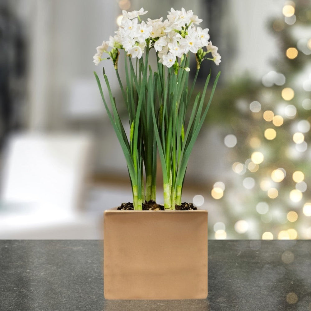
[[[197,83],[222,72],[183,188],[209,239],[310,239],[309,0],[0,0],[0,238],[101,239],[103,211],[132,201],[93,71],[118,83],[92,57],[141,7],[193,10],[222,56]]]

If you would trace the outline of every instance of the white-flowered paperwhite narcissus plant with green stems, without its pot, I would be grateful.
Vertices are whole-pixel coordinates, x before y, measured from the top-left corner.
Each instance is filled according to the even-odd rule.
[[[160,155],[165,209],[181,205],[181,193],[188,159],[211,104],[218,73],[210,99],[204,105],[210,75],[207,76],[202,94],[193,100],[192,94],[203,60],[221,62],[218,48],[209,41],[209,29],[197,26],[202,22],[193,11],[171,10],[167,19],[142,21],[139,11],[123,11],[121,26],[109,40],[96,48],[95,65],[103,59],[112,59],[120,89],[125,101],[130,133],[121,122],[117,104],[112,95],[108,77],[104,80],[108,89],[109,108],[100,79],[94,72],[107,114],[114,127],[127,161],[131,179],[134,209],[142,209],[145,201],[156,200],[156,156]],[[108,49],[111,48],[110,51]],[[149,66],[149,52],[155,50],[157,71]],[[119,50],[124,50],[124,86],[118,72]],[[103,57],[103,54],[108,54]],[[188,89],[189,57],[195,54],[197,71]],[[207,56],[210,55],[210,56]],[[132,59],[136,59],[135,63]],[[166,69],[165,69],[166,68]],[[186,122],[187,108],[191,109]]]

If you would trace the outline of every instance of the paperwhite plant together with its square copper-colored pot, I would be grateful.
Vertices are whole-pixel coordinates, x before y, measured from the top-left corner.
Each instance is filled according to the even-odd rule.
[[[164,21],[162,17],[142,21],[140,16],[146,13],[143,8],[123,11],[116,35],[98,46],[94,55],[95,65],[112,60],[123,95],[128,133],[108,77],[103,70],[110,105],[94,72],[126,159],[133,193],[130,206],[122,204],[123,210],[104,213],[104,295],[107,299],[206,298],[207,211],[193,211],[191,204],[182,204],[181,195],[187,163],[220,72],[207,104],[210,74],[202,93],[194,96],[194,86],[202,61],[218,65],[220,55],[208,29],[197,26],[202,20],[191,10],[171,8]],[[120,50],[124,50],[125,81],[118,71]],[[197,69],[188,87],[192,54]],[[157,154],[163,205],[156,204]]]

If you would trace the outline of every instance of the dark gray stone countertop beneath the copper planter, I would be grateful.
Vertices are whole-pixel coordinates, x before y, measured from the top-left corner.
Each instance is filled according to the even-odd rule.
[[[0,240],[0,311],[311,311],[311,241],[208,243],[207,299],[105,300],[102,240]]]

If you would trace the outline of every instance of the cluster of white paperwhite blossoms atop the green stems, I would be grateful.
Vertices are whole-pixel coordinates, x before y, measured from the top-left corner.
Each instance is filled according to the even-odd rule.
[[[146,48],[152,47],[157,52],[159,63],[166,67],[178,68],[178,59],[188,52],[196,54],[198,68],[204,59],[210,59],[219,65],[221,56],[217,52],[218,48],[209,41],[209,29],[196,26],[202,20],[193,11],[186,11],[184,8],[177,11],[171,8],[164,21],[162,17],[141,21],[140,16],[146,13],[143,8],[132,12],[123,10],[121,26],[115,32],[116,35],[110,36],[108,41],[97,47],[97,53],[93,57],[95,65],[104,59],[103,53],[108,53],[117,67],[118,49],[124,49],[132,58],[141,58]],[[109,47],[112,48],[110,52]],[[206,47],[206,51],[203,47]],[[208,53],[211,53],[209,58],[206,57]],[[188,67],[185,69],[189,70]]]

